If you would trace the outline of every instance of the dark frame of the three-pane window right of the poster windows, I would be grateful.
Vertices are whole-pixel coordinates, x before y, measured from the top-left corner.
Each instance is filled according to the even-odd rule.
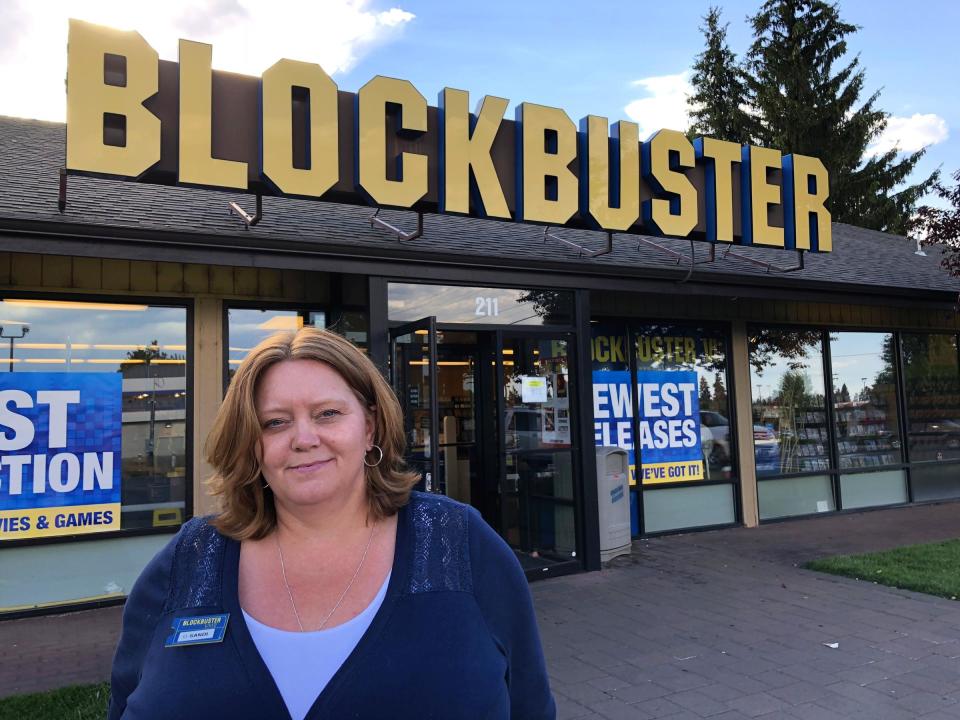
[[[910,458],[910,443],[907,438],[907,430],[909,428],[909,403],[906,396],[906,384],[904,381],[904,368],[903,368],[903,350],[902,350],[902,337],[904,333],[913,334],[913,335],[952,335],[955,338],[955,345],[957,347],[957,362],[958,367],[960,367],[960,333],[949,332],[949,331],[936,331],[936,330],[921,330],[921,329],[911,329],[911,328],[897,328],[897,329],[878,329],[876,327],[869,326],[850,326],[850,327],[836,327],[836,326],[823,326],[823,325],[804,325],[801,323],[770,323],[770,324],[761,324],[761,323],[748,323],[747,324],[747,335],[748,337],[751,334],[751,329],[753,328],[775,328],[783,330],[818,330],[820,332],[820,343],[822,348],[822,366],[823,366],[823,387],[824,387],[824,408],[827,414],[827,433],[828,433],[828,443],[829,443],[829,455],[831,467],[827,470],[808,470],[803,472],[795,473],[783,473],[780,475],[771,475],[760,477],[757,476],[757,485],[762,482],[768,481],[777,481],[777,480],[786,480],[793,478],[804,478],[804,477],[822,477],[824,475],[829,476],[830,485],[833,491],[833,501],[836,506],[835,510],[830,510],[827,512],[814,512],[814,513],[803,513],[798,515],[785,515],[781,517],[766,518],[760,520],[760,524],[769,524],[769,523],[778,523],[778,522],[789,522],[791,520],[800,520],[804,518],[811,517],[820,517],[822,515],[838,515],[845,513],[856,513],[856,512],[865,512],[870,510],[885,510],[890,508],[897,507],[908,507],[910,505],[923,505],[930,503],[938,502],[948,502],[952,498],[941,498],[941,499],[930,499],[930,500],[916,500],[915,493],[913,488],[913,477],[912,471],[914,468],[920,467],[935,467],[942,465],[952,465],[960,468],[960,458],[954,460],[912,460]],[[836,417],[834,412],[834,390],[833,390],[833,354],[830,347],[830,335],[832,333],[876,333],[876,334],[889,334],[894,338],[894,345],[896,347],[896,353],[894,355],[894,370],[896,374],[896,400],[897,400],[897,431],[900,435],[901,443],[901,461],[899,463],[893,463],[890,465],[882,465],[876,467],[862,467],[862,468],[840,468],[840,459],[839,459],[839,447],[837,445],[837,428],[836,428]],[[748,359],[749,361],[749,359]],[[752,420],[752,401],[751,401],[751,420]],[[754,462],[756,456],[754,455]],[[867,474],[878,471],[901,471],[904,473],[906,480],[906,489],[907,489],[907,500],[902,503],[893,503],[890,505],[874,505],[867,507],[852,507],[845,508],[843,506],[843,492],[840,483],[840,476],[842,475],[859,475]]]

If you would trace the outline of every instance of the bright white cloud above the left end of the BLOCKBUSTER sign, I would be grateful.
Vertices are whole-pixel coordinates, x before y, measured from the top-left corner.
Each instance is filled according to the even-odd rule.
[[[137,30],[164,60],[180,38],[213,45],[213,66],[260,75],[281,58],[346,72],[413,19],[369,0],[0,0],[0,115],[62,121],[67,20]],[[11,28],[15,28],[13,32]],[[349,88],[356,89],[356,88]]]

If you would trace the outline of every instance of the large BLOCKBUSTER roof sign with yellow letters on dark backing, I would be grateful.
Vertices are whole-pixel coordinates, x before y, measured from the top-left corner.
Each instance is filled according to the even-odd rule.
[[[161,61],[135,32],[70,21],[72,173],[322,198],[500,220],[831,249],[818,159],[636,123],[579,127],[559,108],[409,81],[356,94],[319,65],[279,60],[262,77],[214,71],[209,45]]]

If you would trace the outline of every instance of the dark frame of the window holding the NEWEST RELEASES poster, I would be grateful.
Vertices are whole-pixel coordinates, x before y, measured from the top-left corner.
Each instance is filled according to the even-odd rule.
[[[740,444],[737,435],[737,407],[736,407],[736,393],[737,389],[734,384],[733,373],[731,370],[731,354],[730,349],[733,343],[733,332],[732,326],[729,323],[718,323],[711,322],[708,320],[697,320],[697,319],[665,319],[665,318],[637,318],[637,317],[623,317],[616,315],[598,315],[591,316],[591,322],[598,322],[601,324],[609,323],[616,324],[622,323],[624,328],[625,337],[627,340],[627,347],[630,352],[627,355],[627,366],[631,378],[637,377],[637,371],[639,370],[637,362],[637,353],[634,343],[631,342],[631,338],[634,337],[634,333],[643,326],[649,325],[663,325],[665,323],[670,323],[673,325],[682,325],[682,326],[695,326],[705,329],[715,330],[718,334],[723,337],[724,345],[724,354],[726,360],[726,367],[724,368],[724,375],[727,383],[727,403],[730,409],[730,417],[727,418],[729,421],[729,436],[730,436],[730,448],[736,453],[736,463],[731,463],[731,471],[733,472],[731,477],[723,478],[718,480],[680,480],[678,482],[665,482],[657,483],[655,485],[644,486],[642,481],[638,480],[637,484],[634,486],[637,489],[637,513],[640,519],[640,535],[638,537],[658,537],[661,535],[676,535],[681,532],[706,532],[709,530],[719,530],[729,527],[738,527],[743,524],[743,501],[742,501],[742,488],[741,488],[741,477],[742,473],[740,472],[741,463],[743,459],[740,457],[738,452]],[[591,335],[592,339],[592,335]],[[592,366],[592,363],[591,363]],[[633,403],[634,412],[631,414],[630,418],[630,432],[634,438],[639,437],[640,433],[640,418],[639,413],[636,409],[640,407],[640,399],[638,397],[637,391],[637,382],[630,383],[630,394],[631,402]],[[639,449],[634,450],[636,458],[636,463],[640,464],[641,453]],[[707,487],[712,485],[732,485],[733,486],[733,510],[734,510],[734,519],[733,522],[729,523],[720,523],[715,525],[693,525],[690,527],[682,528],[671,528],[669,530],[657,530],[654,532],[647,532],[644,528],[643,518],[644,518],[644,492],[656,492],[657,490],[670,490],[671,488],[694,488],[694,487]]]

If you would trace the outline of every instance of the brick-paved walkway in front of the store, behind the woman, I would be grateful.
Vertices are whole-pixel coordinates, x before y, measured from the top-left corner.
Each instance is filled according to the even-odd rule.
[[[641,540],[534,583],[560,717],[956,720],[960,602],[797,567],[950,537],[957,503]],[[0,697],[106,679],[119,624],[0,622]]]

